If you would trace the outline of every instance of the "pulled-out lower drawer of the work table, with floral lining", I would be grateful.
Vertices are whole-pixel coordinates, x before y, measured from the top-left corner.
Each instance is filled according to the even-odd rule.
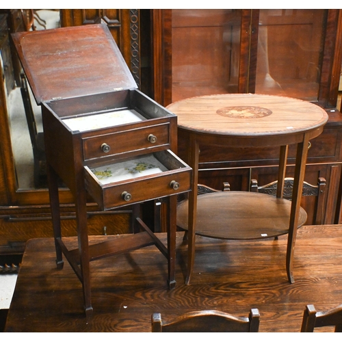
[[[170,150],[84,170],[86,188],[103,210],[191,189],[192,168]]]

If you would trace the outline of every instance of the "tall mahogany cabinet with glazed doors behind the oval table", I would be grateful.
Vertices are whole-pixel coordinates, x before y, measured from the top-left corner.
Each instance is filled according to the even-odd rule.
[[[191,96],[276,94],[316,103],[329,115],[311,142],[305,181],[327,181],[324,223],[341,223],[341,10],[153,10],[153,90],[163,105]],[[179,135],[179,156],[186,140]],[[290,146],[287,176],[293,169]],[[248,191],[276,180],[278,149],[200,150],[199,183]],[[313,218],[313,204],[302,202]]]

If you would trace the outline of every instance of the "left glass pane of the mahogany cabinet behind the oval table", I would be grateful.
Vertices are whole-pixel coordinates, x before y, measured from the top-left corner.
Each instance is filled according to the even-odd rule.
[[[240,27],[241,10],[172,10],[172,102],[237,92]]]

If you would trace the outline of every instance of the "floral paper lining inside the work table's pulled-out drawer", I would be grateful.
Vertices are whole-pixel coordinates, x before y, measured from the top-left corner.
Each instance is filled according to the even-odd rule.
[[[92,168],[90,170],[102,185],[168,171],[153,155],[101,166],[99,168]]]

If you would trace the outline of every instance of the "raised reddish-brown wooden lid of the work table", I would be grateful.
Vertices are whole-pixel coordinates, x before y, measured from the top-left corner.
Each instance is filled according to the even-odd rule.
[[[137,88],[105,24],[12,34],[38,105]]]

